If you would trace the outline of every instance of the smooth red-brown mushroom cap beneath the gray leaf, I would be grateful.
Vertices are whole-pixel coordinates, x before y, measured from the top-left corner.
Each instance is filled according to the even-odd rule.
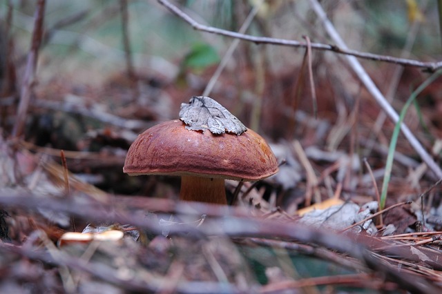
[[[187,130],[180,120],[148,128],[128,150],[128,175],[195,175],[257,181],[278,171],[275,155],[253,130],[213,135]]]

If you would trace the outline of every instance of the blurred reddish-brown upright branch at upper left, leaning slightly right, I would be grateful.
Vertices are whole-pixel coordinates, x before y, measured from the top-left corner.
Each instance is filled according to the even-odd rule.
[[[37,60],[41,39],[43,37],[45,0],[39,0],[35,9],[34,31],[32,32],[32,43],[28,53],[26,72],[23,79],[23,88],[21,89],[19,110],[17,111],[17,120],[12,130],[13,137],[19,137],[23,133],[26,124],[26,112],[30,103],[32,88],[35,82],[35,72],[37,71]]]

